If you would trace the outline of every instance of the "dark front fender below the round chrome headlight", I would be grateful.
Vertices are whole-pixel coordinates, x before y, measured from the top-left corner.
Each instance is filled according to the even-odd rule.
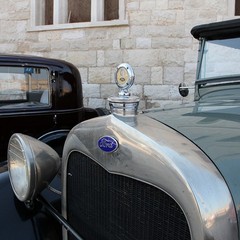
[[[40,203],[26,208],[14,195],[6,164],[0,166],[0,239],[61,239],[61,226]]]

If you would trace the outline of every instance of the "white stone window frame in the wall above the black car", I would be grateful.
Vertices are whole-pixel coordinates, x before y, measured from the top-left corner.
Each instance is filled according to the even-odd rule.
[[[53,24],[44,25],[45,1],[31,0],[31,24],[29,31],[128,25],[125,0],[119,0],[119,19],[110,21],[104,20],[104,0],[91,0],[91,21],[78,23],[68,23],[68,0],[53,1]],[[62,9],[66,10],[62,11]]]

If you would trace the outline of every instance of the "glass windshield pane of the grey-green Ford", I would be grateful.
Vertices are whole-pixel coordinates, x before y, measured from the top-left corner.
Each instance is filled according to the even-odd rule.
[[[206,41],[198,79],[240,76],[240,38]]]

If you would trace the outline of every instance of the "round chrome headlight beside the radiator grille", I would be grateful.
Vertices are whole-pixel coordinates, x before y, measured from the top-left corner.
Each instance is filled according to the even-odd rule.
[[[32,200],[53,179],[60,167],[58,154],[45,143],[14,134],[8,144],[8,169],[16,197]]]

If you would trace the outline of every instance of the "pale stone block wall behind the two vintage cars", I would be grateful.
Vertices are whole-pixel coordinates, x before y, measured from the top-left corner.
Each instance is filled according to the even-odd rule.
[[[136,74],[134,95],[141,108],[182,99],[178,84],[195,80],[197,24],[234,18],[232,0],[125,0],[127,25],[31,29],[31,0],[0,0],[0,52],[64,59],[79,68],[84,103],[104,107],[117,93],[114,72],[128,62]]]

